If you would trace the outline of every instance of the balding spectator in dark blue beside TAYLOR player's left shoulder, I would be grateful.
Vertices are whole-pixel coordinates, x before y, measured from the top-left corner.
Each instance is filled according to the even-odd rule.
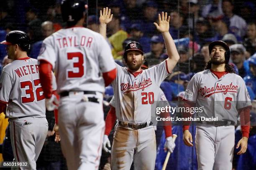
[[[53,23],[51,21],[45,21],[44,23],[42,23],[41,24],[41,32],[42,32],[43,38],[49,37],[51,34],[54,33]],[[40,53],[42,42],[43,42],[43,40],[35,42],[31,46],[31,52],[29,55],[31,58],[35,58],[35,59],[37,58],[37,56]]]

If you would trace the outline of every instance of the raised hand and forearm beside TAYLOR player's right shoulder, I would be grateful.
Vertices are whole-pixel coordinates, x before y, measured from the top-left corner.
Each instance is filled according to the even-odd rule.
[[[107,36],[107,24],[112,20],[113,14],[111,14],[111,9],[108,9],[108,7],[103,8],[103,13],[100,10],[100,27],[99,27],[99,33],[106,38]]]

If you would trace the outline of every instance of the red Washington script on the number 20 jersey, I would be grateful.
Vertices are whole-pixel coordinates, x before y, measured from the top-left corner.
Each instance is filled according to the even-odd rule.
[[[121,91],[125,91],[124,93],[128,93],[131,91],[137,91],[137,90],[144,90],[146,87],[150,86],[152,84],[152,81],[150,78],[143,79],[142,82],[134,82],[133,84],[127,83],[121,83]]]

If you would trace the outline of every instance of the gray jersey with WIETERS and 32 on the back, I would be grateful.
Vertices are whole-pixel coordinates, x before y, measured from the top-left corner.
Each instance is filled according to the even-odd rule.
[[[45,117],[38,60],[29,57],[14,60],[3,68],[0,83],[0,100],[8,103],[7,117]],[[56,90],[54,75],[53,89]]]

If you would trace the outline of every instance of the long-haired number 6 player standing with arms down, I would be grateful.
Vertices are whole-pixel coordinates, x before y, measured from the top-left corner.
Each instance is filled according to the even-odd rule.
[[[195,136],[198,170],[230,170],[238,114],[243,138],[236,148],[241,146],[238,155],[246,152],[251,100],[243,78],[236,75],[228,64],[228,45],[223,41],[213,41],[209,52],[206,70],[195,74],[187,86],[184,105],[203,108],[203,112],[195,115],[199,118]],[[204,117],[215,119],[205,120]],[[183,140],[185,145],[193,146],[188,128],[189,125],[183,127]]]

